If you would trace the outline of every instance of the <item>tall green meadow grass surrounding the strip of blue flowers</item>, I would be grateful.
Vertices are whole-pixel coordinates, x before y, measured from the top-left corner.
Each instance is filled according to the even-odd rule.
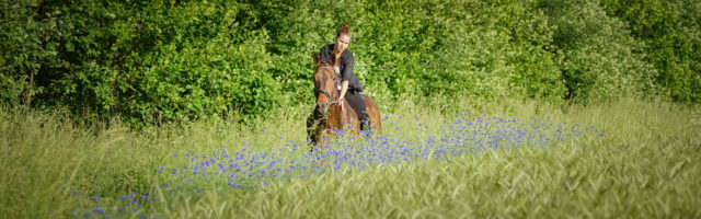
[[[93,207],[117,218],[701,217],[697,106],[633,100],[566,108],[536,102],[461,105],[505,118],[551,116],[555,123],[594,125],[606,130],[606,137],[585,132],[541,147],[489,149],[361,171],[343,168],[245,189],[198,181],[199,194],[185,187],[169,195],[159,186],[170,182],[168,174],[158,173],[160,166],[186,165],[185,153],[237,151],[244,142],[255,151],[289,148],[287,143],[304,141],[309,108],[291,107],[250,125],[210,119],[187,127],[130,130],[116,119],[87,125],[64,112],[3,107],[0,218],[71,218],[84,212],[101,218]],[[387,136],[416,142],[439,135],[443,119],[453,117],[411,103],[392,107],[384,115],[400,130],[384,123]],[[414,130],[414,122],[399,119],[414,115],[430,128]],[[137,212],[117,212],[125,203],[122,195],[146,192],[153,203],[141,201],[141,208],[134,208]],[[100,199],[91,200],[93,195]]]

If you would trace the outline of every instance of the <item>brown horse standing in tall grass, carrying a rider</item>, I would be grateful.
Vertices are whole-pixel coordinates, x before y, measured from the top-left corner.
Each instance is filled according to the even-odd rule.
[[[358,120],[358,115],[345,99],[343,100],[343,111],[341,111],[341,105],[338,104],[341,91],[337,90],[334,82],[336,73],[333,70],[333,64],[322,64],[319,61],[319,57],[314,55],[314,65],[317,66],[317,71],[314,72],[317,106],[309,119],[307,119],[307,134],[312,147],[321,148],[319,143],[329,143],[332,135],[341,131],[345,132],[346,128],[349,128],[350,132],[358,139],[360,122]],[[370,96],[361,94],[361,97],[367,106],[372,132],[381,134],[380,108]]]

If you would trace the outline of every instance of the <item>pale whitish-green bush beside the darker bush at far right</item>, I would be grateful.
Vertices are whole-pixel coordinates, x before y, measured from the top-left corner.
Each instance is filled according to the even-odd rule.
[[[562,69],[567,97],[578,102],[639,96],[654,71],[635,54],[624,24],[594,1],[541,1],[556,26],[552,51]]]

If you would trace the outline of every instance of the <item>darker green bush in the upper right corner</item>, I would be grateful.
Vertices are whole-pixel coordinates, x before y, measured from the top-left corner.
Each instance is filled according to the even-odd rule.
[[[701,101],[701,4],[676,0],[602,0],[643,45],[645,61],[658,72],[656,85],[678,102]]]

